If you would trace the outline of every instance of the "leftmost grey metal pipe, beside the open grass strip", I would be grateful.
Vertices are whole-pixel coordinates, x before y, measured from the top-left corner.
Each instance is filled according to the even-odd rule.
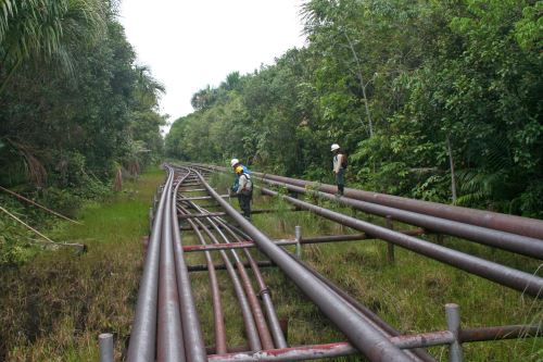
[[[173,177],[173,173],[169,173],[166,185],[172,184]],[[165,201],[166,192],[162,192],[159,208],[154,216],[153,229],[151,232],[143,266],[143,275],[141,276],[138,291],[138,302],[127,352],[127,361],[129,362],[155,361],[159,260]]]

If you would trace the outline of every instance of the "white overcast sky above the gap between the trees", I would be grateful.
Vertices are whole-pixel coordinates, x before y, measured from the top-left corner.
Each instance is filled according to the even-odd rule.
[[[304,43],[302,0],[123,0],[121,23],[138,54],[166,86],[163,113],[192,112],[190,99],[231,72],[247,74]]]

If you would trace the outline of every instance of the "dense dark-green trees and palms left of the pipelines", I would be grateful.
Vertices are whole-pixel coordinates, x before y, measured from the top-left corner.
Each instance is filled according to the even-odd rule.
[[[135,52],[110,0],[0,0],[0,185],[71,215],[161,154],[163,86]],[[117,185],[118,187],[119,185]],[[45,213],[0,192],[35,225]],[[37,238],[0,213],[0,264]]]

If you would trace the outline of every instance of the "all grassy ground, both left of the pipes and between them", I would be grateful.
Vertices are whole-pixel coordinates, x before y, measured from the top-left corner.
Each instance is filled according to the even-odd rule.
[[[111,202],[88,205],[80,215],[84,226],[63,223],[50,233],[56,240],[85,242],[88,253],[47,252],[24,267],[0,275],[0,360],[97,361],[98,334],[102,332],[115,334],[116,357],[121,359],[141,275],[148,210],[163,179],[159,170],[146,174]],[[213,177],[220,194],[230,183],[230,176]],[[237,207],[237,200],[231,203]],[[273,238],[293,237],[295,225],[302,226],[305,236],[355,233],[307,212],[290,212],[290,207],[277,199],[256,196],[253,208],[279,210],[276,214],[253,215],[253,223]],[[370,219],[361,213],[357,216]],[[377,217],[374,221],[380,222]],[[185,232],[182,242],[198,244],[192,233]],[[529,258],[491,251],[472,242],[452,238],[444,242],[528,272],[540,266]],[[536,323],[543,319],[543,303],[528,296],[400,248],[395,252],[396,262],[389,264],[382,241],[337,242],[304,246],[303,260],[403,333],[444,329],[447,302],[460,305],[465,327]],[[188,264],[205,261],[202,253],[186,255]],[[213,258],[222,263],[217,252]],[[262,272],[279,319],[288,320],[290,345],[345,339],[279,270]],[[231,282],[226,272],[218,272],[218,276],[228,344],[245,345]],[[207,274],[192,273],[191,282],[206,345],[213,345]],[[447,360],[444,348],[431,352],[439,361]],[[543,361],[543,339],[465,345],[465,360]]]

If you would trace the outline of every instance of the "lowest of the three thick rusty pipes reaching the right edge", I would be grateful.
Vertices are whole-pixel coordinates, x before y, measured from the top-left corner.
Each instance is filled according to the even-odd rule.
[[[515,269],[504,266],[497,263],[493,263],[481,258],[472,257],[456,250],[444,248],[407,235],[403,235],[384,227],[366,223],[361,220],[346,216],[344,214],[333,212],[308,202],[300,201],[298,199],[288,196],[279,195],[278,192],[266,188],[263,188],[262,191],[263,194],[270,196],[280,196],[286,201],[293,203],[300,208],[311,210],[312,212],[320,216],[336,221],[342,225],[355,228],[357,230],[365,232],[369,235],[393,242],[397,246],[415,251],[419,254],[432,258],[445,264],[482,276],[489,280],[496,282],[498,284],[508,286],[513,289],[527,292],[533,297],[543,298],[542,295],[543,278],[541,277],[521,271],[517,271]]]

